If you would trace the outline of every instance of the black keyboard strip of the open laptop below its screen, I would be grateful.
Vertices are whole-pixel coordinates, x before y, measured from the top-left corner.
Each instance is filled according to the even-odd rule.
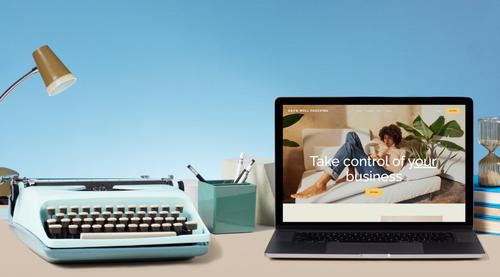
[[[450,242],[449,232],[297,232],[298,242]]]

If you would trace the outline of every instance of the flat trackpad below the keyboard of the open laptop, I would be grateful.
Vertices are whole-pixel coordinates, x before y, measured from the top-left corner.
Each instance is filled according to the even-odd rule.
[[[422,243],[397,242],[330,242],[326,246],[328,254],[421,254]]]

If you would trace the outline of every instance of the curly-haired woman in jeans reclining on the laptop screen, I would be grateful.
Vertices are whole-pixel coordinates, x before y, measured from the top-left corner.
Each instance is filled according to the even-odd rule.
[[[394,124],[385,126],[380,129],[379,137],[384,142],[384,144],[382,145],[382,147],[379,147],[378,151],[376,150],[373,153],[370,153],[370,155],[368,156],[363,149],[363,145],[361,144],[358,135],[355,132],[349,132],[346,136],[344,145],[339,148],[339,150],[335,154],[335,157],[333,158],[338,159],[338,166],[334,166],[333,164],[331,164],[326,168],[326,172],[313,185],[302,192],[292,194],[291,197],[309,198],[311,196],[323,193],[326,191],[326,185],[330,180],[335,181],[336,184],[345,182],[347,180],[346,177],[340,179],[338,178],[345,168],[345,159],[349,159],[351,161],[372,159],[373,162],[371,162],[370,165],[365,166],[365,164],[367,164],[365,163],[363,165],[356,166],[358,173],[362,174],[363,176],[384,176],[401,171],[401,169],[403,168],[403,163],[395,162],[396,160],[404,159],[405,156],[405,150],[399,149],[398,147],[402,138],[401,129]],[[387,161],[387,163],[385,161]],[[352,178],[355,174],[353,166],[348,166],[347,174],[351,175],[349,176],[350,179],[354,179]]]

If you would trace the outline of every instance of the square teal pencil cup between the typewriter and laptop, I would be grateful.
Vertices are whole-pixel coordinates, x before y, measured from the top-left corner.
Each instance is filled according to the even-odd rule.
[[[198,182],[198,213],[214,234],[255,230],[256,186],[233,180]]]

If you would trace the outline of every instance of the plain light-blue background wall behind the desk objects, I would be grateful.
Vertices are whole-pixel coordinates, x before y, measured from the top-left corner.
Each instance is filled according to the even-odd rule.
[[[0,166],[23,176],[218,177],[273,155],[277,96],[471,96],[499,115],[500,1],[6,2],[0,87],[43,44],[79,78],[0,105]]]

